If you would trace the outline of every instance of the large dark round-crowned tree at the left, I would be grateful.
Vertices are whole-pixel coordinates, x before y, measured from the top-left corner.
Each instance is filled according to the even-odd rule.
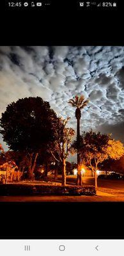
[[[40,148],[55,140],[57,119],[49,102],[40,97],[19,99],[2,113],[3,140],[10,150],[25,152],[29,160],[29,179],[33,179]]]

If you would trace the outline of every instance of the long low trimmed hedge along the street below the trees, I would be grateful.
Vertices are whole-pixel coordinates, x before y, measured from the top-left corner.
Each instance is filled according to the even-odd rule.
[[[50,186],[30,184],[0,184],[1,196],[24,195],[95,195],[94,186]]]

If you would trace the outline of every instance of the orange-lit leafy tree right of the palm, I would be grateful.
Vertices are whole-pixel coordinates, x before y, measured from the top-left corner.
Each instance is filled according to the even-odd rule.
[[[77,141],[74,142],[77,148]],[[120,159],[124,154],[123,143],[115,141],[110,134],[100,132],[83,132],[80,143],[80,155],[82,163],[90,166],[95,174],[95,188],[97,189],[97,169],[105,159]]]

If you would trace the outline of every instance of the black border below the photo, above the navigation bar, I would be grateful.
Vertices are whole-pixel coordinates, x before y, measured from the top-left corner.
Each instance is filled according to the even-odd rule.
[[[124,239],[121,202],[1,202],[0,239]]]

